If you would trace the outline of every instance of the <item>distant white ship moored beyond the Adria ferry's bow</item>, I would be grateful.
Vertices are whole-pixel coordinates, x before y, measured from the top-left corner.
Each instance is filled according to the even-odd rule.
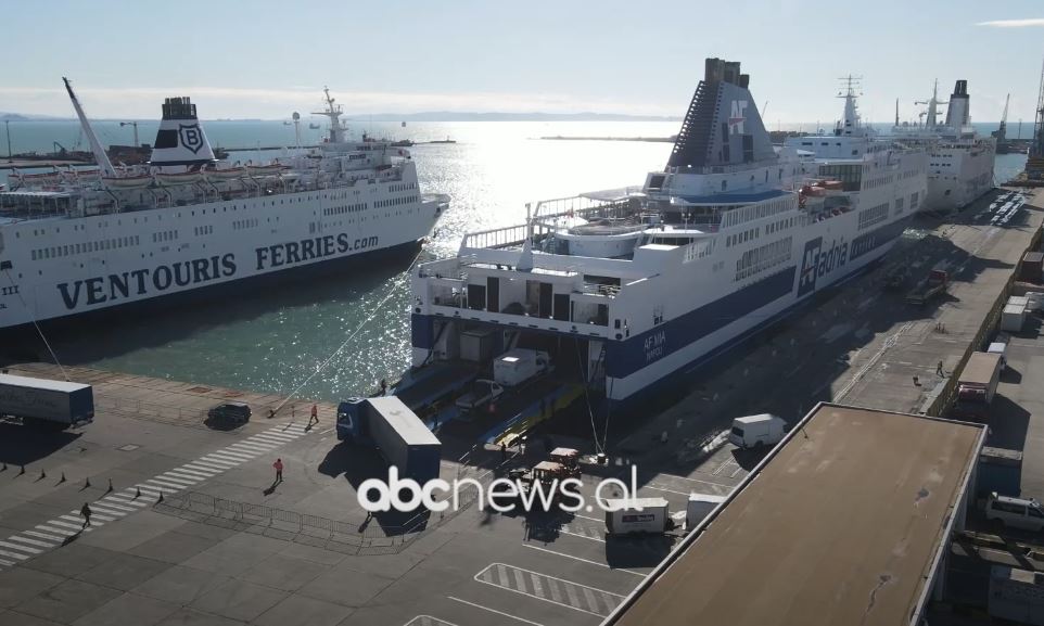
[[[947,104],[943,124],[938,123],[940,104]],[[957,210],[995,187],[997,140],[978,135],[971,126],[967,80],[957,80],[948,103],[939,101],[937,84],[927,105],[925,124],[901,125],[896,115],[892,133],[928,149],[928,197],[921,209]]]

